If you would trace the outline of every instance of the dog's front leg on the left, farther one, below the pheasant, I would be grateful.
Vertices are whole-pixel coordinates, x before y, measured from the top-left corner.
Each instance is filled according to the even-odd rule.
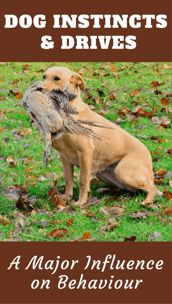
[[[74,188],[74,165],[69,163],[60,153],[59,156],[64,170],[64,178],[66,183],[65,194],[68,194],[69,197],[72,198]]]

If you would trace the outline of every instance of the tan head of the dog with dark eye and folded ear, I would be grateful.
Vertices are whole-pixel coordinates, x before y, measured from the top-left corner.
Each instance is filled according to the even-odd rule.
[[[80,74],[73,73],[66,67],[50,67],[43,74],[43,85],[45,85],[46,91],[48,92],[51,92],[53,88],[63,90],[68,83],[70,84],[72,92],[79,96],[79,89],[81,89],[81,91],[85,89],[85,83]]]

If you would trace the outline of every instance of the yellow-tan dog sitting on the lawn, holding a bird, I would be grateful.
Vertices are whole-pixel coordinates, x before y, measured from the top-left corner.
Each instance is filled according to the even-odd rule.
[[[100,134],[101,140],[72,133],[52,140],[52,147],[58,151],[64,169],[65,194],[70,198],[73,196],[75,165],[80,169],[79,199],[76,205],[83,205],[87,201],[91,174],[103,183],[120,189],[132,192],[141,189],[146,192],[142,204],[152,202],[155,195],[161,195],[162,192],[153,183],[152,160],[148,149],[134,136],[89,109],[81,100],[80,90],[84,91],[85,83],[80,74],[66,67],[50,67],[43,75],[47,92],[52,92],[54,88],[63,89],[68,83],[72,92],[78,95],[70,102],[79,112],[77,119],[100,122],[110,129],[89,126]]]

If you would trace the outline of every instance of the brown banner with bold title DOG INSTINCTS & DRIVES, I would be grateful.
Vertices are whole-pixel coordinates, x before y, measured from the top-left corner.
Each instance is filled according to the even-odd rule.
[[[34,17],[40,14],[45,15],[46,25],[43,28],[37,28],[34,25]],[[5,19],[5,15],[14,15],[15,18],[13,22],[14,25],[15,22],[18,22],[17,26],[5,28],[5,24],[8,23]],[[24,21],[24,17],[20,19],[22,15],[30,16],[27,22],[26,19]],[[60,15],[59,22],[58,17],[56,17],[57,19],[55,22],[56,26],[59,24],[60,28],[53,27],[53,15]],[[77,15],[76,27],[71,28],[68,23],[67,28],[62,27],[64,22],[62,20],[62,15],[69,15],[69,17],[71,17],[71,15]],[[79,21],[80,19],[78,20],[81,15],[88,15],[88,27],[78,27],[78,24],[81,26],[83,24]],[[99,28],[94,27],[96,21],[95,18],[91,19],[91,15],[103,16],[103,19],[99,19]],[[109,15],[111,15],[110,21]],[[113,20],[112,15],[119,15],[121,18],[123,18],[122,15],[128,15],[126,25],[122,25],[127,27],[122,27],[119,23],[116,23],[116,21]],[[153,15],[151,20],[150,15]],[[162,17],[162,15],[167,16],[167,18]],[[131,16],[133,16],[132,19],[130,19]],[[138,20],[136,18],[133,19],[134,17]],[[161,17],[166,18],[162,20],[162,23],[160,22]],[[86,21],[84,21],[84,23],[85,22]],[[31,26],[23,28],[21,25],[25,23],[28,26],[31,24]],[[12,24],[12,19],[10,24]],[[40,24],[40,20],[38,24]],[[115,24],[118,25],[118,28],[113,27]],[[111,25],[111,27],[105,27],[108,25]],[[4,1],[1,5],[0,28],[1,61],[171,61],[171,1],[165,1],[164,5],[164,2],[160,0],[157,0],[156,2],[145,0],[142,3],[139,3],[137,0],[124,2],[111,1],[103,2],[103,4],[92,0],[86,2],[58,1],[53,3],[31,0],[27,5],[23,5],[23,1],[21,0],[17,3],[10,0],[7,2]],[[53,48],[43,49],[41,47],[41,38],[43,36],[51,37],[54,46]],[[61,36],[71,36],[74,46],[71,49],[61,49]],[[76,36],[88,37],[88,49],[76,48],[76,46],[79,47],[80,39],[76,38]],[[97,37],[96,40],[95,38],[92,38],[92,44],[90,36]],[[107,38],[107,41],[103,38],[99,39],[99,36],[106,36],[105,38]],[[122,36],[119,41],[120,43],[117,42],[119,39],[118,36]],[[136,43],[136,47],[133,49],[126,48],[129,46],[129,43],[127,43],[126,40],[129,41],[130,36],[136,37],[131,42],[132,46]],[[108,44],[108,39],[110,39],[107,49],[101,48],[100,40],[102,39],[103,44]],[[65,41],[63,43],[65,43]],[[120,44],[122,47],[121,49],[113,48],[113,46],[119,47]],[[97,49],[91,49],[91,45],[92,47],[96,45]]]

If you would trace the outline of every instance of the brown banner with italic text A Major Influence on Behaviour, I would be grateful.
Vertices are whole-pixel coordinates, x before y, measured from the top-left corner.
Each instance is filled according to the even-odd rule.
[[[20,264],[17,265],[19,269],[15,269],[16,264],[12,264],[11,268],[7,269],[17,256],[21,256]],[[43,256],[42,263],[38,263],[35,269],[33,269],[33,262],[28,267],[34,256],[37,256],[36,262]],[[89,256],[90,262],[88,264]],[[93,268],[94,260],[95,262],[100,260],[100,264],[95,264]],[[138,260],[144,261],[144,265],[142,266],[141,263],[137,268]],[[162,265],[162,262],[157,264],[160,260],[163,261]],[[51,264],[51,261],[54,262]],[[59,261],[57,270],[55,270],[56,261]],[[78,261],[74,264],[73,269],[71,269],[72,261]],[[129,263],[129,261],[131,262]],[[15,262],[17,262],[17,259],[15,259]],[[52,269],[49,268],[50,264]],[[116,269],[121,264],[124,269]],[[100,269],[97,269],[97,265]],[[28,269],[25,269],[27,267]],[[42,269],[39,269],[39,267]],[[141,269],[141,267],[144,269]],[[148,269],[148,267],[152,269]],[[156,267],[162,268],[157,269]],[[13,304],[168,304],[171,303],[170,273],[171,243],[168,242],[1,243],[0,302]],[[59,278],[60,276],[63,276],[63,278]],[[85,288],[83,288],[83,284],[77,288],[81,277],[82,280],[86,280]],[[63,283],[59,284],[60,279],[62,281],[67,279],[65,287]],[[41,288],[43,282],[45,282],[43,280],[50,280],[47,286],[49,288],[46,288],[46,284]],[[92,280],[97,280],[97,282]],[[105,280],[107,280],[107,283]],[[128,280],[127,283],[126,280]],[[35,281],[33,287],[39,284],[35,289],[31,287],[33,281]],[[138,286],[137,282],[139,282]],[[125,285],[127,287],[130,283],[132,288],[125,288]],[[93,285],[95,288],[91,288]],[[104,285],[104,288],[100,288]]]

